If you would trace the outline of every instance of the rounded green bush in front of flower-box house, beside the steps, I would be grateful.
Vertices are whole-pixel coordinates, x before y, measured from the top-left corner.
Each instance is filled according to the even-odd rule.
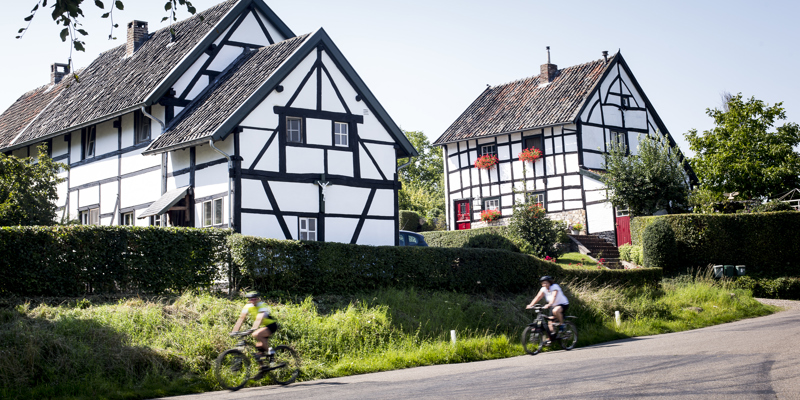
[[[514,214],[508,225],[509,232],[521,243],[520,249],[539,258],[559,257],[560,231],[565,230],[563,222],[547,218],[547,212],[533,199],[514,204]]]

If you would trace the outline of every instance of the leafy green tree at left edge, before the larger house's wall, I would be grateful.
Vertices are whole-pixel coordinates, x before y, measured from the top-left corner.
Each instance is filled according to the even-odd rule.
[[[47,145],[39,146],[39,159],[0,154],[0,226],[54,225],[58,176],[69,167],[47,156]]]

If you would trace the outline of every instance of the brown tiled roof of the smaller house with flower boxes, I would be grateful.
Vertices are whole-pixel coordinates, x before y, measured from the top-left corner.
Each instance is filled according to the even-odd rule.
[[[486,88],[434,144],[573,122],[610,64],[597,60],[560,69],[545,85],[537,75]]]

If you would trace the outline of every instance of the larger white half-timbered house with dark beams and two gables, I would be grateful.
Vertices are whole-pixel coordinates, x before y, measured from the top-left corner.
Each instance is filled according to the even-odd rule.
[[[417,153],[327,33],[228,0],[127,42],[0,115],[0,151],[70,169],[61,217],[398,241],[397,159]]]

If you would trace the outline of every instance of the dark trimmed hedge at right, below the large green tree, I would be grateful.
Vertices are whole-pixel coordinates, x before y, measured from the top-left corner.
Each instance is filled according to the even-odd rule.
[[[665,221],[675,233],[674,252],[661,255],[672,261],[665,274],[709,264],[743,264],[748,274],[800,276],[800,212],[637,217],[631,231],[634,225],[646,229],[656,220]],[[647,247],[644,243],[645,254]]]

